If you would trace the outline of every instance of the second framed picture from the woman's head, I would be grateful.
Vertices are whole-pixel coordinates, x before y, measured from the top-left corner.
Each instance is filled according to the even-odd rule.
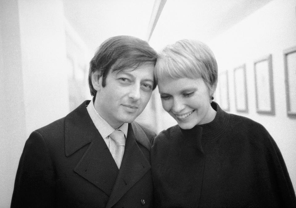
[[[248,113],[248,96],[245,64],[233,70],[233,78],[236,111]]]

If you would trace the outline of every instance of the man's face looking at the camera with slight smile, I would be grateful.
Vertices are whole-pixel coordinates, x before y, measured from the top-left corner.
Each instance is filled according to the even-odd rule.
[[[154,84],[153,70],[151,63],[119,73],[110,70],[105,87],[102,87],[102,77],[99,78],[94,106],[114,129],[122,123],[133,122],[146,107]]]

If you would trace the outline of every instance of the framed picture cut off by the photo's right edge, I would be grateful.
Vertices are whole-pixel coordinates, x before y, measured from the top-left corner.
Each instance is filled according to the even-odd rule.
[[[296,46],[284,51],[287,115],[296,117]]]

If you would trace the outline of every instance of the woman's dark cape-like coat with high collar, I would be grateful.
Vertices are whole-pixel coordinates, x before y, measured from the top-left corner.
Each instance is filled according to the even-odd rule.
[[[228,114],[157,135],[151,147],[155,207],[296,207],[277,144],[259,123]]]

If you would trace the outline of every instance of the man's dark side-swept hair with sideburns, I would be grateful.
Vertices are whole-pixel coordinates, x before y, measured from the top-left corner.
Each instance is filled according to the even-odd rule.
[[[92,73],[99,71],[102,77],[102,86],[106,85],[106,77],[112,68],[114,71],[122,71],[127,68],[136,69],[142,64],[156,63],[157,53],[150,45],[133,36],[120,35],[105,40],[97,49],[90,61],[88,72],[88,85],[90,94],[96,96],[97,90],[92,86]],[[98,77],[98,78],[99,78]],[[153,89],[157,83],[154,80]]]

